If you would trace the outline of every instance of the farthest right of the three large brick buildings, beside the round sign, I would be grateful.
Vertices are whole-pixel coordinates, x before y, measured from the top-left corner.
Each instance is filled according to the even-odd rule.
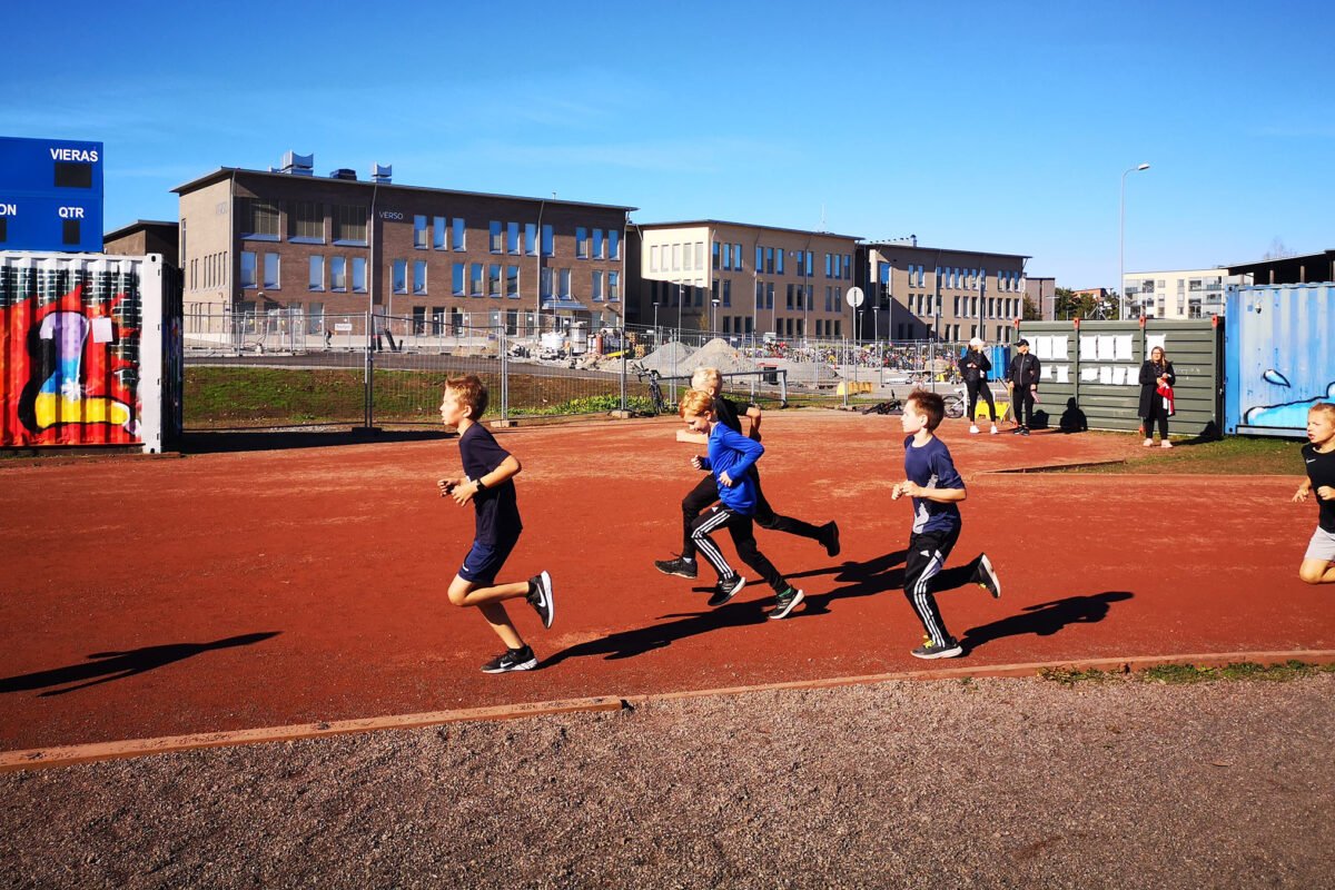
[[[922,247],[917,236],[864,242],[858,280],[866,291],[862,338],[1011,343],[1024,315],[1028,256]]]

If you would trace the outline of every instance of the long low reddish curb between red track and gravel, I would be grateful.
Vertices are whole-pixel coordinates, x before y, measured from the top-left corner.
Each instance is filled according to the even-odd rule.
[[[529,702],[521,705],[497,705],[491,707],[471,707],[457,711],[426,711],[422,714],[400,714],[396,717],[368,717],[331,723],[296,723],[254,730],[234,730],[226,733],[196,733],[191,735],[168,735],[163,738],[127,739],[121,742],[100,742],[92,745],[69,745],[57,747],[28,749],[23,751],[0,753],[0,773],[19,770],[41,770],[101,761],[123,761],[152,754],[195,751],[208,747],[232,747],[239,745],[259,745],[263,742],[296,742],[302,739],[371,733],[375,730],[406,730],[467,721],[511,721],[545,714],[577,714],[591,711],[619,711],[634,705],[651,702],[676,702],[714,695],[744,695],[746,693],[770,693],[790,690],[824,690],[841,686],[870,686],[890,681],[936,681],[981,677],[1035,677],[1045,669],[1100,670],[1108,673],[1144,671],[1161,664],[1195,664],[1197,667],[1219,667],[1238,662],[1283,663],[1299,660],[1308,664],[1335,663],[1335,650],[1299,648],[1286,651],[1242,651],[1242,652],[1196,652],[1187,655],[1141,655],[1135,658],[1085,658],[1059,662],[1023,662],[1013,664],[979,664],[972,667],[924,669],[920,671],[898,671],[893,674],[865,674],[861,677],[836,677],[829,679],[789,681],[784,683],[761,683],[754,686],[728,686],[721,689],[688,690],[681,693],[654,693],[643,695],[599,695],[594,698],[557,699],[550,702]]]

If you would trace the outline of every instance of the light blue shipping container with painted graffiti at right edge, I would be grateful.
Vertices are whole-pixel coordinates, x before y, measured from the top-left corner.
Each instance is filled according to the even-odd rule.
[[[1230,287],[1224,430],[1306,436],[1307,410],[1335,402],[1335,283]]]

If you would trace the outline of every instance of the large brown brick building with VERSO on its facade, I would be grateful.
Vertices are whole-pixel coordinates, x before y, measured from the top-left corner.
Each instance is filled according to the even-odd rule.
[[[631,207],[399,185],[379,164],[219,168],[180,196],[187,315],[410,319],[413,332],[619,324]]]

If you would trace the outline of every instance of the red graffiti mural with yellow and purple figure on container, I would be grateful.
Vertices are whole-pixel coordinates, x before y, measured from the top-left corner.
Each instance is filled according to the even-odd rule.
[[[5,446],[134,444],[139,331],[117,320],[127,294],[89,302],[89,286],[0,310]]]

